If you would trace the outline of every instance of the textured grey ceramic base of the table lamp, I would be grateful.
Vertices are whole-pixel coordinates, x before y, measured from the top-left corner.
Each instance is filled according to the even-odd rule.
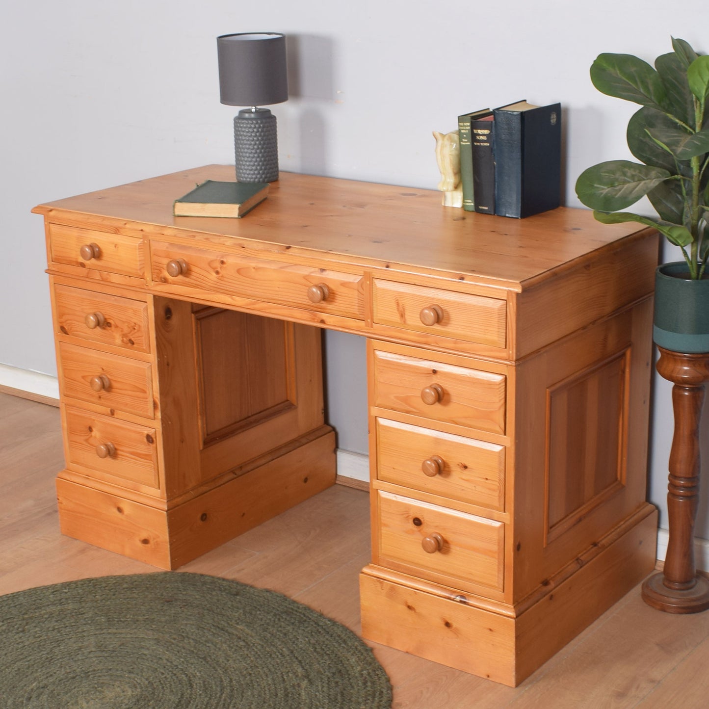
[[[234,117],[236,179],[276,182],[278,134],[276,116],[268,108],[244,108]]]

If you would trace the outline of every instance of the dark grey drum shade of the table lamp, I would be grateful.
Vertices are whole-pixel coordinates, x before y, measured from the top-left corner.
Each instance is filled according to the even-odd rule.
[[[269,32],[217,38],[219,91],[228,106],[270,106],[288,100],[286,38]]]

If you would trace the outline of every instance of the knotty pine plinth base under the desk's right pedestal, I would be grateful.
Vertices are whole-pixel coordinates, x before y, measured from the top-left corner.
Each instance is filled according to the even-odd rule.
[[[607,546],[601,540],[601,552],[545,586],[519,613],[503,605],[497,613],[450,589],[439,596],[396,583],[370,564],[359,576],[362,635],[515,687],[652,571],[657,510],[646,511]]]

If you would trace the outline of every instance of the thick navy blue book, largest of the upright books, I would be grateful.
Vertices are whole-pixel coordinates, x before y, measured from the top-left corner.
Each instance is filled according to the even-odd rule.
[[[562,164],[560,104],[527,101],[495,116],[495,213],[523,218],[559,206]]]

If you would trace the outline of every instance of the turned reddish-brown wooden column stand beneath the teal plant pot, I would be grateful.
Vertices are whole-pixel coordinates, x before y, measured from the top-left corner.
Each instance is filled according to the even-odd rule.
[[[659,348],[657,371],[674,384],[674,437],[669,457],[667,508],[669,544],[661,574],[642,585],[642,599],[666,613],[699,613],[709,608],[709,580],[694,566],[694,522],[699,501],[699,422],[709,354]]]

